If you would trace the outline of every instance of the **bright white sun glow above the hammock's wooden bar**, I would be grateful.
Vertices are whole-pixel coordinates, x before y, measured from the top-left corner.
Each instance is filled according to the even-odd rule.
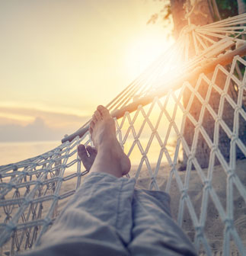
[[[129,47],[127,54],[127,69],[133,78],[145,75],[152,70],[152,88],[159,88],[174,81],[182,74],[184,62],[179,49],[176,49],[174,39],[164,40],[158,35],[139,37]],[[158,59],[158,61],[157,61]]]

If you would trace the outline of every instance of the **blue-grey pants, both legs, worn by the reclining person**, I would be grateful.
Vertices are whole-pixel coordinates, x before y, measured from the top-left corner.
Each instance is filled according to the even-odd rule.
[[[24,255],[196,255],[170,214],[163,191],[133,178],[88,174],[52,228]]]

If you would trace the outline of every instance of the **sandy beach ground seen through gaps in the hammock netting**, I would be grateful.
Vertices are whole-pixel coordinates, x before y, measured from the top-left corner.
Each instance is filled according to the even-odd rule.
[[[236,174],[238,175],[238,178],[240,179],[241,183],[246,186],[246,175],[245,175],[245,165],[246,165],[246,159],[239,160],[237,162],[237,168],[236,168]],[[154,173],[155,171],[155,164],[151,165],[152,171]],[[137,173],[137,166],[133,165],[130,176],[134,177]],[[207,169],[203,169],[203,173],[207,174]],[[65,177],[72,174],[72,172],[69,171],[69,173],[65,173]],[[158,187],[160,190],[166,190],[168,178],[170,174],[170,167],[168,167],[167,164],[161,165],[161,168],[158,171],[158,176],[156,178]],[[186,175],[185,171],[178,171],[178,175],[181,178],[181,181],[184,182],[184,178]],[[84,176],[85,177],[85,176]],[[83,178],[81,178],[81,182],[83,182]],[[146,167],[142,167],[139,177],[137,179],[136,185],[138,187],[142,187],[145,189],[149,189],[149,185],[152,182],[152,179],[149,178],[149,171]],[[222,169],[221,166],[217,165],[214,167],[214,171],[212,174],[212,187],[214,188],[214,191],[219,197],[219,200],[222,204],[222,207],[224,208],[226,212],[227,207],[227,190],[226,190],[226,181],[227,176],[225,174],[225,171]],[[75,190],[77,183],[77,178],[69,179],[68,181],[62,182],[62,187],[60,189],[59,194],[65,194],[66,192],[70,190]],[[187,194],[190,197],[190,201],[193,204],[193,209],[196,213],[197,219],[200,219],[200,209],[202,206],[202,200],[203,200],[203,183],[200,180],[199,174],[197,174],[197,171],[191,171],[190,173],[190,183],[189,183],[189,189],[187,190]],[[155,188],[154,188],[155,189]],[[52,194],[51,191],[49,194]],[[171,180],[171,187],[169,194],[171,196],[171,214],[174,219],[177,219],[178,216],[178,210],[179,210],[179,203],[181,200],[181,193],[178,189],[176,179],[173,177]],[[11,194],[8,194],[8,196],[11,196]],[[69,197],[59,200],[58,205],[58,213],[63,209],[67,201],[69,200]],[[234,187],[233,189],[233,214],[234,214],[234,225],[235,229],[238,232],[239,237],[241,238],[244,246],[246,245],[246,205],[244,202],[244,198],[241,197],[241,194],[238,192],[238,190]],[[48,213],[48,210],[50,208],[52,201],[46,201],[43,202],[43,210],[42,210],[42,218],[46,216],[46,213]],[[14,206],[14,210],[12,212],[12,216],[14,213],[18,210],[18,206]],[[5,218],[5,213],[3,209],[1,209],[0,212],[1,215],[1,222],[3,218]],[[182,219],[182,228],[189,236],[190,240],[193,241],[195,237],[195,230],[193,227],[193,221],[190,218],[189,210],[187,209],[187,206],[184,206],[184,216]],[[222,254],[222,246],[223,246],[223,235],[224,235],[224,229],[225,225],[222,222],[218,211],[216,210],[216,206],[214,205],[212,198],[209,196],[208,199],[208,206],[206,210],[206,222],[205,222],[205,228],[204,233],[207,239],[207,242],[209,243],[213,255],[220,255]],[[20,231],[21,235],[21,231]],[[237,255],[238,249],[235,247],[235,242],[231,241],[231,254],[234,253]],[[4,246],[4,251],[8,251],[9,244]],[[200,255],[203,255],[204,251],[201,248]]]

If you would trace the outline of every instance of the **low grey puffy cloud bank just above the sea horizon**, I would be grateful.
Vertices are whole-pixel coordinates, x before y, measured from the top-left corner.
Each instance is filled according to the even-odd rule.
[[[40,117],[26,126],[14,123],[0,125],[0,141],[2,142],[60,140],[65,133],[67,133],[65,127],[52,129]]]

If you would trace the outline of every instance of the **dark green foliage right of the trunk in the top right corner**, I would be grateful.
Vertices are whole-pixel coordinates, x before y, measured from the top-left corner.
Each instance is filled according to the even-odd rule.
[[[236,0],[216,0],[216,3],[222,19],[238,15],[238,2]]]

